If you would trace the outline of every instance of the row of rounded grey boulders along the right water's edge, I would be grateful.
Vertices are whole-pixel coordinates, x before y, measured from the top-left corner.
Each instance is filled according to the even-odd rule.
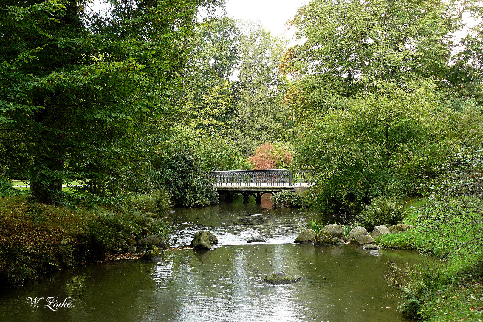
[[[313,229],[305,229],[300,233],[300,235],[298,235],[294,242],[299,244],[313,243],[314,246],[326,246],[343,244],[342,239],[344,239],[350,242],[352,245],[372,245],[375,242],[374,238],[378,238],[385,234],[397,234],[410,228],[413,228],[413,226],[409,224],[396,224],[390,226],[389,228],[385,225],[381,225],[374,227],[372,234],[369,235],[366,228],[362,226],[357,226],[352,229],[349,234],[344,238],[344,229],[341,225],[328,224],[317,233]],[[371,251],[377,251],[380,249],[379,246],[375,247],[377,247],[377,249],[373,248],[371,249]]]

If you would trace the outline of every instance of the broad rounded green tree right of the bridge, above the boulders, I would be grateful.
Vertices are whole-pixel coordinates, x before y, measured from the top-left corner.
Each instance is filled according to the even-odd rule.
[[[422,173],[438,174],[454,143],[429,89],[413,84],[410,94],[393,87],[347,100],[304,131],[296,161],[311,173],[316,209],[353,217],[372,197],[404,196],[426,182]]]

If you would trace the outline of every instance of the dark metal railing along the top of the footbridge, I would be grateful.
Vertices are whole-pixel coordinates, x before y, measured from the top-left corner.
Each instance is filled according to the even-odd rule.
[[[226,170],[206,172],[214,179],[215,186],[292,186],[294,183],[307,182],[304,172],[292,174],[286,170]]]

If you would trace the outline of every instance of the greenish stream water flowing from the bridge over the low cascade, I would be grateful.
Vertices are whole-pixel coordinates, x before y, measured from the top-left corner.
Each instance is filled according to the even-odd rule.
[[[158,262],[137,260],[79,266],[26,286],[0,290],[0,322],[6,321],[404,321],[396,293],[381,280],[387,264],[416,264],[415,252],[369,255],[350,245],[293,244],[312,215],[303,210],[232,204],[176,209],[170,220],[175,245],[208,229],[219,245],[208,252],[168,252]],[[261,236],[266,244],[247,244]],[[302,280],[274,285],[263,279],[283,270]],[[47,297],[71,302],[57,311]],[[26,299],[44,297],[36,306]],[[56,303],[53,300],[52,303]],[[54,307],[54,304],[49,305]],[[55,308],[54,308],[55,309]]]

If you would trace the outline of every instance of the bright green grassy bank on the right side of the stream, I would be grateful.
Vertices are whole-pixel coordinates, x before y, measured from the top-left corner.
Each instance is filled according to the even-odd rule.
[[[401,297],[399,308],[422,321],[482,322],[483,265],[471,261],[472,254],[451,257],[454,250],[448,247],[445,238],[451,239],[452,234],[461,232],[449,227],[446,231],[427,229],[425,216],[421,216],[427,211],[427,204],[426,198],[410,200],[403,223],[415,227],[376,239],[385,249],[414,250],[441,260],[436,266],[419,266],[415,267],[417,273],[406,273],[405,281],[396,285],[400,291],[397,296]]]

